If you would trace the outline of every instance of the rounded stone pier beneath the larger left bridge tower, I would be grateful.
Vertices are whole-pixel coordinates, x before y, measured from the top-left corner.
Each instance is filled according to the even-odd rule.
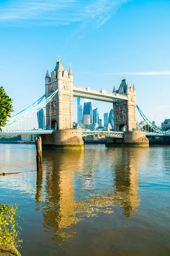
[[[81,130],[55,130],[54,134],[42,135],[42,148],[82,150],[83,146]]]

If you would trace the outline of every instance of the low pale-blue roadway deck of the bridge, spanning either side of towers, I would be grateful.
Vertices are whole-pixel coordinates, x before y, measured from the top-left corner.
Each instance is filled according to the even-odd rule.
[[[0,136],[2,135],[22,135],[22,134],[53,134],[54,130],[2,130]],[[104,134],[106,137],[112,138],[123,138],[124,131],[82,131],[82,137],[95,135],[95,134]],[[169,137],[170,134],[160,134],[160,133],[149,133],[146,132],[146,136],[156,136],[156,137]]]

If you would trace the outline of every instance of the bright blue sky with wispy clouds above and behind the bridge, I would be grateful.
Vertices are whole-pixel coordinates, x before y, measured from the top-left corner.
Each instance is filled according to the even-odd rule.
[[[137,104],[160,125],[170,118],[169,13],[169,0],[0,0],[0,85],[17,113],[45,93],[59,55],[75,85],[112,91],[123,75],[134,81]],[[112,107],[94,105],[102,119]]]

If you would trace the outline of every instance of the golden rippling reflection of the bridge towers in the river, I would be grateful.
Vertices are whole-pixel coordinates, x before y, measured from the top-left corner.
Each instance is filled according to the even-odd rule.
[[[138,163],[141,153],[145,157],[146,151],[144,148],[101,151],[101,145],[99,149],[92,146],[85,151],[44,151],[45,189],[42,191],[42,175],[37,173],[35,196],[44,226],[58,239],[66,239],[74,236],[75,230],[70,227],[78,221],[103,212],[136,215],[140,202]],[[45,198],[41,202],[42,197]]]

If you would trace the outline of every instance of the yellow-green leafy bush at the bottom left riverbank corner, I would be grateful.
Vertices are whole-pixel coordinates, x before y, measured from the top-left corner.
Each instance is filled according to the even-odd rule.
[[[20,218],[17,209],[17,204],[0,204],[0,248],[3,250],[14,251],[22,242],[18,237],[19,231],[16,230],[16,227],[21,229],[15,219],[15,216]]]

